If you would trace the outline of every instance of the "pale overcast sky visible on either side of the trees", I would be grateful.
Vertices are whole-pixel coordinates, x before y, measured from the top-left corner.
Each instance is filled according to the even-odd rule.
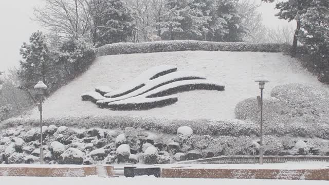
[[[32,32],[41,30],[38,23],[30,19],[33,7],[41,3],[42,0],[0,0],[0,71],[19,65],[22,43],[28,42]],[[259,11],[268,27],[287,24],[285,20],[278,20],[274,16],[277,12],[274,3],[262,3]]]

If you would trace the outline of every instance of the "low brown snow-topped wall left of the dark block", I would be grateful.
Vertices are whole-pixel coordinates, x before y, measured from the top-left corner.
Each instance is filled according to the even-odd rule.
[[[0,167],[0,176],[37,176],[37,177],[85,177],[98,175],[99,177],[114,177],[112,165],[81,166],[81,168],[65,167]]]

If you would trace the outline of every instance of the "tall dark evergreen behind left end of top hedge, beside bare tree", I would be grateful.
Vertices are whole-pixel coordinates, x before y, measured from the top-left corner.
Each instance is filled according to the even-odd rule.
[[[93,42],[96,46],[126,42],[134,29],[130,8],[121,0],[92,0]]]

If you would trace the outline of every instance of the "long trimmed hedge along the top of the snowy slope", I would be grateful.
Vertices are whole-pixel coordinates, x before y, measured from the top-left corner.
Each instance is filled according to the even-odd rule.
[[[112,54],[152,53],[168,51],[254,51],[281,52],[282,44],[220,43],[208,41],[158,41],[143,43],[115,43],[98,48],[98,56]]]

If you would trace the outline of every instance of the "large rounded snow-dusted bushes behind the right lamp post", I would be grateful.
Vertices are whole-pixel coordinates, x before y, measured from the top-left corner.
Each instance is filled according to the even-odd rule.
[[[257,99],[249,98],[235,107],[235,117],[259,123]],[[264,131],[271,135],[329,138],[329,95],[321,87],[304,84],[279,85],[264,99]]]

